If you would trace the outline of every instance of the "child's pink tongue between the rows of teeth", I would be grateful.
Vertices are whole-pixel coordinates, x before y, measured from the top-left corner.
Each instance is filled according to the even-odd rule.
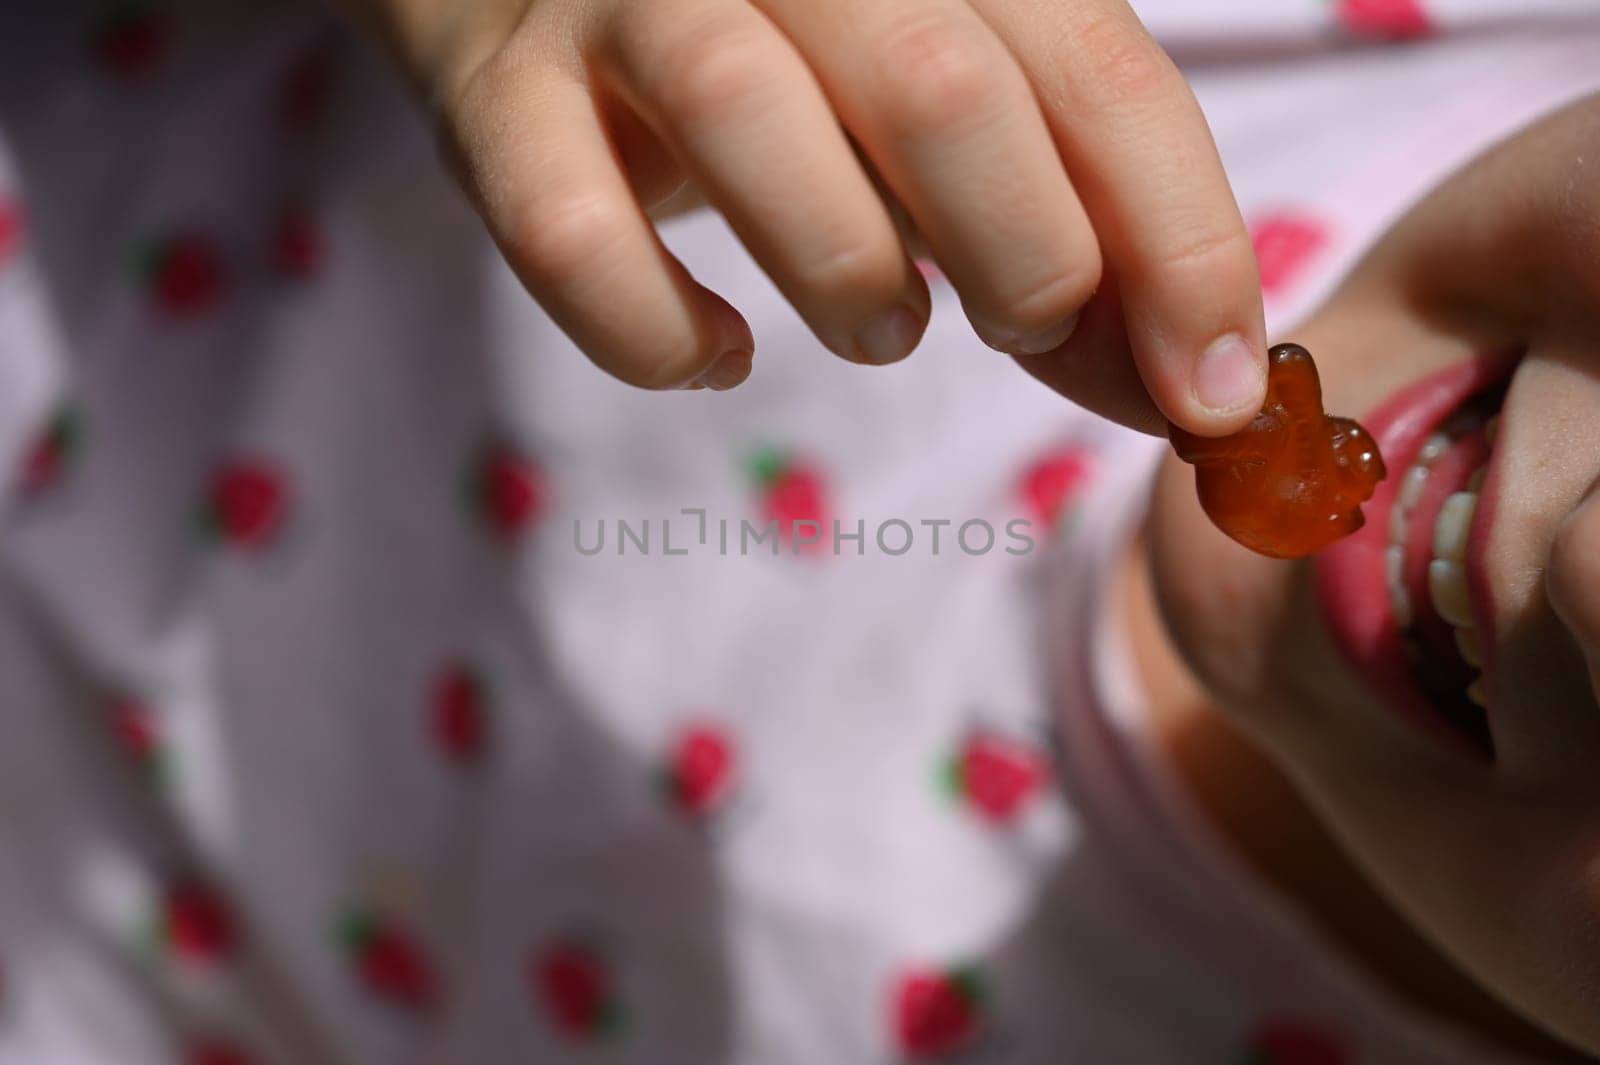
[[[1434,521],[1445,501],[1464,491],[1472,475],[1488,462],[1490,441],[1482,429],[1458,438],[1450,451],[1429,467],[1422,496],[1411,509],[1405,547],[1405,588],[1411,596],[1413,632],[1424,656],[1424,681],[1438,691],[1459,692],[1477,676],[1461,659],[1454,627],[1440,617],[1427,587],[1427,564],[1434,558]]]

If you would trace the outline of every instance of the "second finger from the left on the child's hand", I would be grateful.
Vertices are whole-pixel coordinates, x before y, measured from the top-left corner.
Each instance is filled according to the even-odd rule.
[[[928,289],[811,70],[744,0],[653,0],[614,19],[621,91],[838,355],[891,363]]]

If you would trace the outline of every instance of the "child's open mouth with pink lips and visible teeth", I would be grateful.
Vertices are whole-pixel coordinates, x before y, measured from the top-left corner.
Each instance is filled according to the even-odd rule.
[[[1389,469],[1366,526],[1315,563],[1334,643],[1374,694],[1435,739],[1494,753],[1488,593],[1494,438],[1520,360],[1451,366],[1362,419]]]

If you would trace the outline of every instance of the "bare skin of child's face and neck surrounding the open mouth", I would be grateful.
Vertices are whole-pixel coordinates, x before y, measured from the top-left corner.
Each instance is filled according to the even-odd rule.
[[[1218,532],[1176,459],[1122,582],[1158,731],[1226,835],[1381,980],[1502,1043],[1600,1054],[1600,98],[1429,195],[1294,339],[1355,416],[1526,345],[1486,552],[1496,760],[1381,707],[1309,566]]]

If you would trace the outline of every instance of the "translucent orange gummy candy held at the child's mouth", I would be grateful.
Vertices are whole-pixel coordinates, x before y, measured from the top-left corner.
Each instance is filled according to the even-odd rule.
[[[1387,470],[1371,435],[1322,409],[1310,352],[1278,344],[1267,353],[1267,401],[1232,437],[1171,427],[1178,457],[1195,467],[1200,505],[1253,552],[1304,558],[1355,532]]]

